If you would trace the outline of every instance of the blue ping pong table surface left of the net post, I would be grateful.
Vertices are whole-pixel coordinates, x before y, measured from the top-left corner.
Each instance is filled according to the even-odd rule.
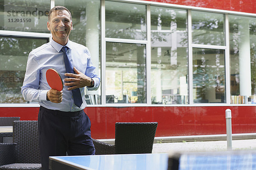
[[[167,153],[51,156],[50,159],[89,170],[167,170]]]

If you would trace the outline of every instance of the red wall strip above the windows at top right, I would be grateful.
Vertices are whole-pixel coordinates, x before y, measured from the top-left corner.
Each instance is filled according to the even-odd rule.
[[[147,0],[160,3],[172,3],[177,5],[196,6],[203,8],[223,9],[256,13],[255,0]]]

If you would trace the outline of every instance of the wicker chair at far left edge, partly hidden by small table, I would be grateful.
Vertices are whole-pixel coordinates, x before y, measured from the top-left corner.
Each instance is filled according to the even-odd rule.
[[[20,117],[0,117],[0,126],[12,126],[15,120],[20,120]],[[0,142],[12,143],[12,132],[1,133]]]

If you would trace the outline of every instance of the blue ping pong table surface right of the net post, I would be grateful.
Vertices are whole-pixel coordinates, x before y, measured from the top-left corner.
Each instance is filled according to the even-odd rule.
[[[256,170],[256,151],[187,153],[179,170]]]

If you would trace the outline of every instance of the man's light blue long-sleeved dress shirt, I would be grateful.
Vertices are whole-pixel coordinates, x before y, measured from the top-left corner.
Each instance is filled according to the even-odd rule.
[[[100,78],[95,73],[95,67],[91,61],[88,48],[70,40],[68,40],[66,46],[69,48],[67,50],[67,55],[73,66],[94,80],[94,87],[87,87],[87,90],[97,90],[99,88]],[[51,39],[50,42],[29,53],[21,93],[26,101],[39,102],[39,105],[48,109],[58,111],[80,111],[87,105],[85,102],[84,88],[80,88],[83,99],[83,103],[80,108],[74,104],[72,91],[67,90],[68,86],[65,85],[63,88],[61,103],[52,103],[46,99],[47,91],[50,89],[46,80],[46,71],[49,68],[57,70],[62,78],[63,84],[64,79],[67,78],[67,76],[64,76],[66,68],[63,59],[63,52],[60,52],[62,47],[62,45]]]

